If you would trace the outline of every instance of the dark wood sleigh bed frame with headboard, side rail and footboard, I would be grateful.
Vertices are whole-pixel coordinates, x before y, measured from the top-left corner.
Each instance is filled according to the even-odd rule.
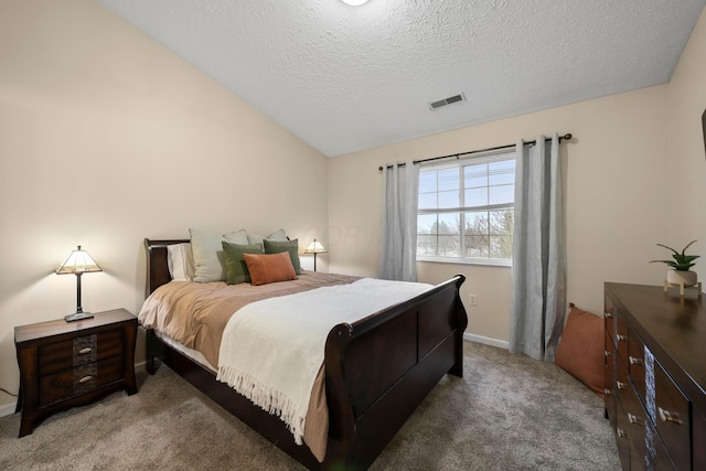
[[[145,239],[147,295],[171,280],[167,246],[189,240]],[[370,467],[405,420],[446,374],[463,374],[463,331],[459,296],[462,275],[416,298],[352,324],[339,324],[325,343],[329,406],[327,456],[320,463],[306,445],[295,443],[278,417],[255,406],[215,374],[162,342],[147,329],[147,370],[156,358],[309,469]]]

